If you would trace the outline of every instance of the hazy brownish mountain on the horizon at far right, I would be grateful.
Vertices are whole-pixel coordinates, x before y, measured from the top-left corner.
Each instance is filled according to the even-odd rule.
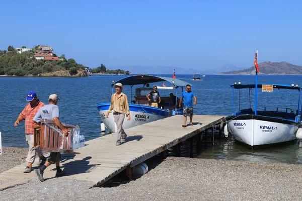
[[[301,75],[302,74],[302,66],[293,65],[287,63],[285,61],[282,62],[270,62],[264,61],[259,63],[259,74],[266,74],[266,75],[284,75],[284,74],[291,74],[291,75]],[[218,74],[236,74],[236,75],[254,75],[256,71],[255,66],[252,66],[247,69],[243,70],[231,70],[228,72],[220,72]]]

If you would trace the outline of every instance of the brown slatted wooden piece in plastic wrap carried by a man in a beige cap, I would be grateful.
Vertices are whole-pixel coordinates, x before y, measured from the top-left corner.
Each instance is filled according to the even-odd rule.
[[[34,129],[34,146],[40,146],[40,150],[49,152],[73,151],[72,129],[74,126],[65,125],[64,127],[69,131],[67,137],[55,124],[41,123],[40,127]]]

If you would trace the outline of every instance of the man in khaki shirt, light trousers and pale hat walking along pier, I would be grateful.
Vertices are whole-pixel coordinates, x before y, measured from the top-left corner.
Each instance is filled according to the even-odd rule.
[[[122,92],[124,86],[118,82],[114,85],[114,88],[116,93],[113,93],[111,96],[111,105],[105,117],[108,118],[109,113],[111,113],[111,111],[113,112],[114,122],[117,127],[116,145],[120,145],[125,142],[127,138],[127,134],[123,129],[125,115],[128,117],[128,121],[131,120],[131,117],[127,95]]]

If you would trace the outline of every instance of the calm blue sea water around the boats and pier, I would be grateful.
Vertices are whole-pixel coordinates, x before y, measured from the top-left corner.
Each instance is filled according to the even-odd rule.
[[[2,132],[3,146],[27,146],[24,137],[24,122],[14,127],[18,115],[27,104],[26,95],[30,90],[36,91],[39,99],[47,104],[49,94],[58,94],[60,100],[60,120],[66,124],[79,125],[85,140],[101,136],[97,105],[110,102],[112,80],[119,80],[126,75],[93,75],[83,78],[67,77],[0,77],[0,131]],[[159,75],[169,76],[171,75]],[[187,81],[197,97],[197,106],[194,113],[198,115],[231,115],[232,114],[232,88],[235,81],[241,83],[254,83],[253,75],[206,75],[201,81],[192,81],[192,75],[176,75],[178,79]],[[258,83],[286,83],[302,86],[302,76],[296,75],[260,75]],[[162,83],[160,83],[162,84]],[[167,83],[166,83],[167,84]],[[169,85],[169,84],[167,84]],[[130,87],[125,92],[130,99]],[[274,110],[285,110],[284,105],[296,110],[298,95],[288,95],[284,91],[269,94],[269,106]],[[161,95],[168,95],[171,91],[161,91]],[[181,90],[177,91],[180,94]],[[248,93],[246,93],[248,94]],[[259,94],[261,97],[261,94]],[[266,93],[267,95],[267,93]],[[132,93],[133,96],[133,93]],[[236,97],[237,99],[239,98]],[[241,95],[241,107],[248,107],[248,96]],[[276,104],[274,103],[274,100]],[[282,101],[281,101],[282,100]],[[253,104],[254,102],[252,102]],[[285,104],[284,104],[285,103]],[[262,105],[259,103],[259,107]],[[264,107],[264,106],[263,106]],[[238,109],[237,106],[236,109]],[[267,108],[268,109],[268,108]],[[181,122],[180,122],[181,124]],[[214,145],[202,151],[198,157],[226,158],[248,161],[278,161],[302,163],[302,148],[296,141],[282,146],[262,150],[250,150],[236,143],[232,137],[215,140]]]

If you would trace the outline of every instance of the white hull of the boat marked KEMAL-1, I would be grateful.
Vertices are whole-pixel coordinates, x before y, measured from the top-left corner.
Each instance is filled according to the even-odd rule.
[[[227,117],[234,139],[251,147],[287,142],[295,139],[299,123],[256,115]]]

